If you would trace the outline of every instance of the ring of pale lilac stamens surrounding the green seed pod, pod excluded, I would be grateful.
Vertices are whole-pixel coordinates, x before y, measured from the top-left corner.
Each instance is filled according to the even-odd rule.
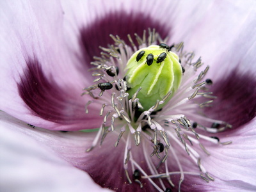
[[[130,35],[128,38],[131,46],[125,44],[124,40],[118,36],[111,35],[111,38],[115,44],[109,45],[108,48],[101,47],[103,51],[101,57],[95,57],[95,61],[92,62],[92,65],[95,66],[91,69],[93,70],[92,75],[96,77],[95,84],[84,88],[83,94],[92,97],[92,100],[86,103],[86,113],[90,112],[88,109],[93,103],[102,105],[99,111],[99,115],[102,116],[102,125],[92,147],[86,151],[90,152],[97,143],[102,145],[109,132],[117,132],[115,147],[118,147],[120,141],[124,141],[124,172],[127,182],[130,184],[132,184],[131,173],[133,173],[134,182],[138,182],[141,188],[143,188],[143,180],[147,179],[159,191],[169,191],[175,186],[171,180],[171,175],[180,175],[179,190],[184,175],[198,175],[206,182],[214,180],[201,164],[201,157],[196,152],[195,146],[198,145],[209,156],[210,153],[202,141],[216,145],[227,145],[231,141],[220,142],[216,136],[209,137],[203,133],[206,131],[213,134],[232,126],[227,122],[213,120],[200,113],[195,113],[195,111],[200,111],[200,108],[212,106],[213,99],[216,98],[207,88],[212,84],[211,79],[202,81],[209,70],[209,66],[198,74],[198,68],[203,65],[201,59],[198,58],[198,60],[193,61],[195,54],[184,52],[183,43],[170,46],[168,49],[175,52],[180,58],[180,65],[182,65],[182,72],[184,72],[182,83],[172,99],[162,109],[158,110],[157,107],[170,97],[171,92],[168,92],[162,100],[156,100],[156,104],[152,108],[143,111],[143,106],[137,97],[141,88],[134,95],[127,93],[129,87],[125,81],[125,65],[138,49],[166,41],[150,29],[148,30],[148,38],[146,38],[146,31],[143,38],[135,34],[138,46],[134,44]],[[163,47],[160,46],[159,49],[163,49]],[[202,102],[202,98],[207,100]],[[203,125],[205,123],[212,125],[205,126]],[[131,143],[131,136],[134,138],[134,146]],[[174,146],[188,154],[192,162],[198,166],[198,172],[184,172]],[[134,147],[141,147],[150,173],[145,172],[140,163],[132,158],[132,148]],[[152,147],[152,152],[148,153],[150,147]],[[168,161],[166,160],[171,158],[170,154],[177,163],[179,172],[168,170]],[[159,163],[154,163],[156,162],[152,159],[154,156],[159,159]],[[164,173],[159,173],[160,166],[164,166]],[[155,180],[158,180],[160,186],[156,184]],[[165,186],[163,180],[167,180],[170,186]]]

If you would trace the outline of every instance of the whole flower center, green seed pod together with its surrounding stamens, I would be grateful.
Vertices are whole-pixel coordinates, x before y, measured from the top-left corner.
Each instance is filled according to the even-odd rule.
[[[198,150],[209,156],[203,143],[230,144],[208,135],[232,126],[207,118],[200,110],[212,106],[215,98],[207,91],[212,84],[211,79],[205,79],[209,66],[198,72],[203,65],[201,59],[194,61],[195,54],[183,51],[183,43],[166,45],[154,30],[148,30],[146,36],[146,31],[143,38],[135,35],[136,47],[130,35],[131,46],[111,35],[115,43],[101,47],[102,56],[92,62],[94,84],[84,88],[83,95],[92,97],[86,103],[86,113],[89,105],[102,106],[102,125],[86,151],[97,143],[102,145],[107,134],[113,132],[118,134],[115,147],[125,143],[124,175],[130,184],[138,183],[143,188],[144,180],[148,180],[158,191],[175,186],[180,191],[185,175],[198,175],[206,182],[214,180],[202,165]],[[136,159],[138,152],[147,169]],[[183,152],[198,172],[184,171],[184,159],[179,157]],[[173,162],[178,171],[170,170]],[[179,182],[173,182],[171,175],[180,175]]]

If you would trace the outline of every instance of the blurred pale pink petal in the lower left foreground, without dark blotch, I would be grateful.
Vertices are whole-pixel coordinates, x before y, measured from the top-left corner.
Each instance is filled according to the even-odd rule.
[[[4,113],[0,118],[1,191],[109,191],[57,156],[42,139],[26,135],[28,125]]]

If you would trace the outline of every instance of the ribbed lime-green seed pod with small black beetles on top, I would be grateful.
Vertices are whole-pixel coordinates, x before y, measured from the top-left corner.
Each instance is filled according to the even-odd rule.
[[[145,52],[141,55],[141,51]],[[157,109],[163,108],[179,88],[182,79],[179,56],[158,45],[136,51],[127,62],[125,69],[127,86],[131,88],[127,91],[129,98],[141,87],[137,97],[140,99],[143,110],[150,109],[157,100],[162,100],[168,92],[172,92]]]

